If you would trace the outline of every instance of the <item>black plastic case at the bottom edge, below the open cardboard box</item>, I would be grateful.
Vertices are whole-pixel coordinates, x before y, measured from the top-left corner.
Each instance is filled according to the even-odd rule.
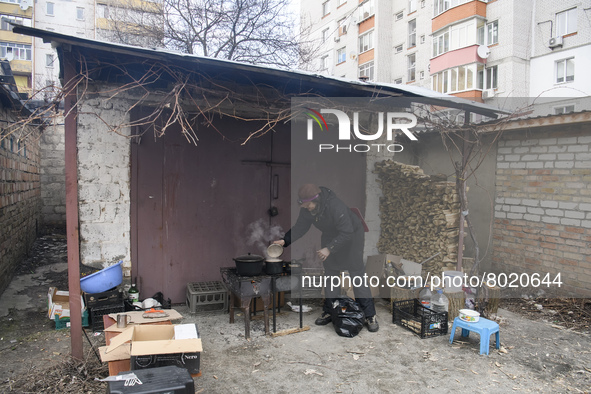
[[[127,375],[129,371],[120,372],[119,375]],[[125,380],[111,381],[107,388],[107,394],[145,394],[145,393],[170,393],[193,394],[195,381],[184,368],[177,366],[158,367],[133,371],[142,384],[126,385]]]

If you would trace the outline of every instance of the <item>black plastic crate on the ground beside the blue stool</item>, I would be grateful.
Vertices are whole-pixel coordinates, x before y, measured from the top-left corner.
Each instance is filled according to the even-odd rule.
[[[421,305],[418,299],[392,304],[392,323],[401,325],[421,338],[447,334],[447,312],[435,312]]]

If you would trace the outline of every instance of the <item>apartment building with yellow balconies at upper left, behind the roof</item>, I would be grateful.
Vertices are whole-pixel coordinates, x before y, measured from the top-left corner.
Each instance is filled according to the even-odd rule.
[[[159,3],[143,0],[0,0],[0,58],[10,61],[21,93],[47,100],[59,89],[59,63],[50,44],[12,33],[10,23],[77,37],[154,45],[138,25],[154,24]],[[117,20],[119,19],[119,20]]]

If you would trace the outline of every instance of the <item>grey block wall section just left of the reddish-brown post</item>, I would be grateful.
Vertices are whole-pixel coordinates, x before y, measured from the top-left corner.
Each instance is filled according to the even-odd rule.
[[[66,171],[63,117],[53,119],[40,141],[43,226],[66,227]]]

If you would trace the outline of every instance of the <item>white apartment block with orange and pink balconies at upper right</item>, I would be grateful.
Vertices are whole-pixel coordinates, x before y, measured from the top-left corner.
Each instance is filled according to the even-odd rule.
[[[319,52],[308,68],[491,103],[591,95],[590,13],[589,0],[301,3]]]

